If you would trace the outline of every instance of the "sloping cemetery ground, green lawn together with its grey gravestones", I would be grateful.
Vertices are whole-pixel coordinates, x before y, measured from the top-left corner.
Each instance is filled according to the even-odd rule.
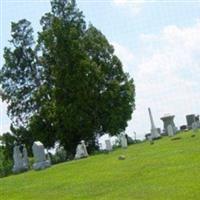
[[[150,195],[155,199],[165,199],[166,192],[169,199],[198,199],[199,121],[196,118],[191,123],[192,129],[188,128],[184,132],[175,129],[174,123],[169,123],[167,127],[164,126],[163,134],[159,135],[150,108],[148,114],[151,131],[149,137],[141,143],[128,145],[126,135],[121,133],[118,136],[119,146],[114,150],[111,140],[106,139],[105,149],[109,154],[102,151],[101,154],[89,155],[82,140],[77,145],[73,161],[51,165],[43,144],[35,141],[32,146],[34,163],[31,169],[28,168],[25,145],[14,144],[13,173],[18,175],[0,179],[0,195],[16,200],[42,200],[47,196],[61,200],[104,197],[121,199],[123,185],[126,199],[149,199]],[[164,134],[166,132],[167,135]],[[195,139],[192,137],[194,134]],[[17,182],[20,193],[15,190],[14,182]],[[176,184],[172,185],[174,182]],[[158,187],[159,191],[156,189]]]

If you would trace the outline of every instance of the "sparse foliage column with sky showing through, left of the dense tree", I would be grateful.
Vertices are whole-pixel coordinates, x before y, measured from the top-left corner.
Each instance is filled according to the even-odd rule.
[[[30,22],[25,19],[12,22],[11,35],[11,48],[4,48],[5,64],[1,69],[0,83],[8,114],[19,126],[27,123],[35,109],[33,93],[39,84],[39,70]]]

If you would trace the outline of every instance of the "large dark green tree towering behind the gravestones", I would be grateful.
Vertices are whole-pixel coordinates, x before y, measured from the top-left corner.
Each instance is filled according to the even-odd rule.
[[[87,27],[74,0],[52,0],[51,7],[41,18],[34,47],[30,23],[15,23],[12,37],[18,29],[21,35],[13,50],[4,51],[1,84],[11,117],[20,116],[32,137],[45,146],[60,141],[73,154],[82,139],[92,146],[97,133],[125,130],[135,107],[135,88],[113,46],[94,26]],[[19,48],[28,51],[20,54],[20,64]]]

